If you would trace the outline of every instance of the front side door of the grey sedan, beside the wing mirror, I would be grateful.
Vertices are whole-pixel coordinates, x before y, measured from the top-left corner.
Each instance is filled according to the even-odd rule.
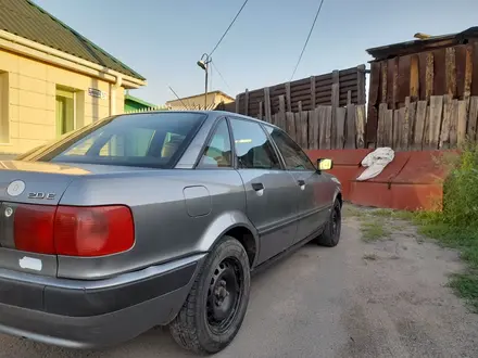
[[[286,169],[294,179],[299,214],[298,242],[313,234],[328,217],[325,178],[286,132],[272,126],[266,126],[266,129],[284,158]]]

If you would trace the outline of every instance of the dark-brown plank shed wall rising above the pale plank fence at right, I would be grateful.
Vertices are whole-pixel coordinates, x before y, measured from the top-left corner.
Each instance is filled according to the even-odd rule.
[[[374,50],[370,63],[366,140],[377,143],[379,107],[399,110],[408,102],[428,101],[433,95],[451,95],[469,101],[478,95],[478,41],[456,44],[455,39],[423,41],[416,49]],[[410,53],[417,51],[416,53]],[[376,53],[377,52],[377,53]],[[403,112],[403,110],[402,110]]]

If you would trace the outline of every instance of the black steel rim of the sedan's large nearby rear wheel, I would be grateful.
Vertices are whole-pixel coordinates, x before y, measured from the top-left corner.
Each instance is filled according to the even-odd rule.
[[[207,289],[206,320],[209,328],[223,334],[235,321],[244,290],[244,274],[240,261],[223,259],[215,268]]]

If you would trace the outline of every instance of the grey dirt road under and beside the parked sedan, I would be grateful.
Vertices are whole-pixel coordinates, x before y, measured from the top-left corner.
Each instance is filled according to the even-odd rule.
[[[365,243],[357,218],[338,247],[306,245],[252,281],[239,335],[219,358],[478,357],[478,316],[445,286],[457,254],[406,222]],[[125,322],[127,324],[127,322]],[[73,351],[0,335],[0,357],[191,357],[166,330],[102,351]]]

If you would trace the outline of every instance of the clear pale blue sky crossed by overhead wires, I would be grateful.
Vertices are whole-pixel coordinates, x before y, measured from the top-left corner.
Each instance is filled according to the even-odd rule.
[[[243,0],[34,0],[148,80],[156,105],[204,91],[197,61]],[[212,88],[231,97],[288,81],[319,0],[249,0],[213,53]],[[478,26],[477,0],[325,0],[294,79],[367,63],[366,49]]]

